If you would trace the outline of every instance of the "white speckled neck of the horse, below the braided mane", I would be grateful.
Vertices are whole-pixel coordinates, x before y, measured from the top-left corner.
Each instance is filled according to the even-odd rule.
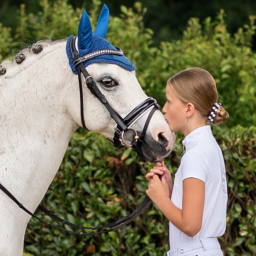
[[[28,56],[0,77],[0,183],[32,212],[78,127],[66,104],[65,86],[75,83],[71,77],[64,42]],[[0,216],[0,255],[22,255],[30,216],[2,191]]]

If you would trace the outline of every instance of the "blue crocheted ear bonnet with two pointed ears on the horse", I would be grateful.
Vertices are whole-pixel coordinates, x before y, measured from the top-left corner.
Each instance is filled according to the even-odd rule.
[[[108,7],[104,4],[102,8],[102,12],[99,16],[96,29],[92,33],[89,17],[87,13],[84,11],[79,23],[79,30],[78,30],[79,57],[83,57],[84,55],[87,55],[92,52],[96,52],[101,49],[116,50],[116,48],[113,47],[113,45],[105,39],[105,35],[107,34],[107,30],[108,30],[108,19],[109,19]],[[73,73],[77,74],[76,67],[73,64],[73,56],[70,49],[70,41],[72,38],[73,38],[73,35],[71,35],[67,39],[66,50],[67,50],[67,56],[69,58],[70,67]],[[113,54],[100,55],[85,61],[83,64],[84,64],[84,67],[87,67],[92,63],[99,63],[99,62],[117,64],[125,68],[126,70],[130,70],[130,71],[136,70],[136,67],[134,66],[134,64],[127,57],[125,57],[125,55],[121,55],[121,56],[113,55]]]

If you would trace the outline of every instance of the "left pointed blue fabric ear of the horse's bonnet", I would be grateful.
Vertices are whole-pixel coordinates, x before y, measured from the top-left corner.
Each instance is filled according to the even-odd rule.
[[[88,49],[92,39],[92,26],[89,16],[84,10],[78,26],[78,48],[81,50]]]

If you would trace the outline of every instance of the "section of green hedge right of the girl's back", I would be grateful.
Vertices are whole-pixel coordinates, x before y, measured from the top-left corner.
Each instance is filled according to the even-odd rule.
[[[217,140],[226,160],[229,188],[228,255],[256,255],[256,127],[220,130]]]

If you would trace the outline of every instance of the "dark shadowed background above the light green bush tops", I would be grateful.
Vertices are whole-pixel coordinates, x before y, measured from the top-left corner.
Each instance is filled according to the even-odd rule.
[[[50,0],[49,2],[54,2]],[[120,6],[133,7],[136,0],[104,0],[111,15],[120,14]],[[73,8],[91,9],[93,0],[69,0],[68,3]],[[143,15],[145,26],[154,31],[154,44],[160,41],[170,41],[179,39],[186,29],[187,21],[191,17],[198,17],[204,20],[206,17],[214,18],[220,9],[224,9],[227,14],[225,22],[230,33],[248,23],[248,17],[255,15],[255,0],[211,0],[207,4],[205,0],[141,0],[140,3],[146,9]],[[0,22],[4,26],[14,28],[18,17],[15,15],[20,8],[20,4],[25,4],[28,12],[37,13],[41,6],[36,0],[1,0],[0,2]],[[256,47],[254,37],[254,49]]]

